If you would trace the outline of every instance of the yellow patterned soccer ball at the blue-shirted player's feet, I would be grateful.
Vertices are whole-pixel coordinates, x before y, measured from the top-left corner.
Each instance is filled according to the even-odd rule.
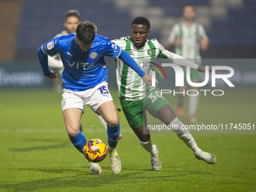
[[[93,163],[104,160],[107,152],[107,146],[100,139],[91,139],[84,145],[84,157]]]

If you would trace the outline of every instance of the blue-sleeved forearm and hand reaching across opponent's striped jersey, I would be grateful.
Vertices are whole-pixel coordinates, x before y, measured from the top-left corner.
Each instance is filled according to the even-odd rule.
[[[136,71],[146,84],[151,85],[151,75],[145,74],[145,72],[143,72],[142,69],[139,68],[137,62],[128,53],[126,53],[124,50],[121,50],[118,59],[121,59],[128,66],[130,66],[130,68]]]

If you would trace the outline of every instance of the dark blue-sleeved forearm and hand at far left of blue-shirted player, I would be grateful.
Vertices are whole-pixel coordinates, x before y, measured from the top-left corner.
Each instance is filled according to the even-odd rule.
[[[44,75],[51,79],[56,78],[56,72],[50,72],[48,67],[48,56],[44,54],[44,52],[41,50],[41,47],[38,48],[38,58]]]

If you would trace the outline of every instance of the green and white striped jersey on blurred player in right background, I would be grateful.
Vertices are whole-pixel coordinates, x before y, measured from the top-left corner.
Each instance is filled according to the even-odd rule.
[[[200,64],[200,41],[206,37],[206,32],[200,23],[194,22],[187,26],[184,22],[176,23],[169,35],[169,42],[181,39],[181,45],[175,47],[175,53],[186,59],[194,59]]]

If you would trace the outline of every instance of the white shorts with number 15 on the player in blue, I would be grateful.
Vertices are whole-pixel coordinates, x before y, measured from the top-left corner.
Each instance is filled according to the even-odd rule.
[[[108,83],[103,81],[89,90],[63,89],[61,106],[62,111],[67,108],[81,108],[84,111],[84,105],[87,105],[96,112],[100,105],[108,101],[113,101],[113,99],[108,90]]]

